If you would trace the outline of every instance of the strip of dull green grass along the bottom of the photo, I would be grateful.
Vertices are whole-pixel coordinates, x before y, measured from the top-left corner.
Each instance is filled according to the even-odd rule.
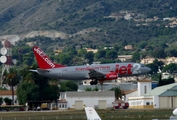
[[[96,110],[102,120],[169,119],[173,109]],[[0,120],[86,120],[84,110],[0,112]]]

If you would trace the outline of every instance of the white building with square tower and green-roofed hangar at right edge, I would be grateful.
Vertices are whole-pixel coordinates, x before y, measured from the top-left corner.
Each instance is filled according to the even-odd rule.
[[[151,90],[151,80],[138,81],[138,90],[126,95],[130,108],[176,108],[177,83]]]

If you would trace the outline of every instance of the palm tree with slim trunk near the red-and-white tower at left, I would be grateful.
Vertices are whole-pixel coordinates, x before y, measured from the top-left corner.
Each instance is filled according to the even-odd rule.
[[[12,105],[14,105],[14,86],[19,83],[19,77],[15,69],[10,69],[5,75],[4,83],[8,84],[12,90]]]

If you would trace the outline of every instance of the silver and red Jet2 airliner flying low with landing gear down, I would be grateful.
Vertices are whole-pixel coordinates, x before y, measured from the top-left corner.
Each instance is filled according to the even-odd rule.
[[[106,80],[115,80],[118,77],[138,76],[146,74],[151,69],[140,63],[110,63],[92,64],[84,66],[64,66],[54,63],[39,47],[33,47],[39,68],[30,70],[50,78],[65,80],[92,79],[91,85]]]

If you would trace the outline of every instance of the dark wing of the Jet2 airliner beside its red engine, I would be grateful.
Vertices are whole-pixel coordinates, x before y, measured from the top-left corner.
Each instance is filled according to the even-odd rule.
[[[90,69],[89,71],[90,71],[89,72],[89,76],[90,76],[91,79],[100,79],[100,78],[104,78],[105,77],[104,74],[102,74],[102,73],[100,73],[100,72],[98,72],[98,71],[96,71],[94,69]]]

